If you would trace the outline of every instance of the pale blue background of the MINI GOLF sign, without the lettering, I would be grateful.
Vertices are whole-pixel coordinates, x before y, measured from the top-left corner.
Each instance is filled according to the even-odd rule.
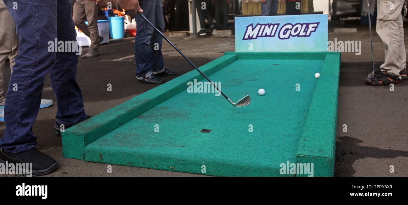
[[[319,23],[316,30],[310,32],[310,36],[290,36],[288,39],[280,39],[286,32],[281,32],[284,25],[288,28],[292,25],[302,24],[306,29],[303,32],[307,33],[308,24]],[[252,24],[252,26],[250,26]],[[279,24],[276,29],[275,36],[262,36],[258,34],[256,39],[243,40],[247,27],[250,30],[255,30],[257,24]],[[272,27],[270,27],[272,29]],[[265,29],[261,29],[264,31]],[[289,31],[287,29],[284,29]],[[310,29],[312,30],[312,29]],[[280,35],[279,35],[280,34]],[[251,36],[251,35],[250,35]],[[248,35],[246,35],[248,38]],[[326,14],[308,14],[308,15],[293,15],[293,16],[250,16],[235,18],[235,52],[319,52],[327,51],[328,42],[328,16]],[[250,50],[249,43],[253,44],[253,50]]]

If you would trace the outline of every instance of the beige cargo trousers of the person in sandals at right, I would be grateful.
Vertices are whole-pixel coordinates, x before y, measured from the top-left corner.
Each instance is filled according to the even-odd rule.
[[[384,43],[385,61],[381,65],[381,71],[387,71],[387,73],[398,76],[401,71],[401,43],[404,45],[404,30],[400,24],[402,22],[402,0],[378,0],[377,8],[377,34]],[[401,21],[401,22],[400,22]],[[405,47],[405,46],[404,46]],[[404,48],[405,53],[405,48]]]

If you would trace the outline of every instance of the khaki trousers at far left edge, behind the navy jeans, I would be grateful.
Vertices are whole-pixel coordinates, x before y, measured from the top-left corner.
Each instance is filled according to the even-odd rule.
[[[7,58],[10,60],[10,68],[15,64],[14,58],[18,56],[18,37],[16,25],[6,5],[0,0],[0,105],[4,105],[4,66]]]

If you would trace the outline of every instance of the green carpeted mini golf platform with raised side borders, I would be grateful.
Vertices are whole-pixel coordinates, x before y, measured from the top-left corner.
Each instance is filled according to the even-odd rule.
[[[226,54],[203,69],[231,100],[249,94],[251,105],[237,108],[216,93],[189,93],[186,82],[206,82],[192,71],[155,88],[157,95],[169,95],[157,98],[155,106],[118,108],[109,120],[98,115],[68,129],[64,156],[213,176],[294,176],[281,175],[279,165],[299,161],[315,163],[315,176],[333,175],[339,54],[326,54],[295,59],[288,59],[290,53],[272,59]],[[315,73],[322,76],[316,79]],[[333,91],[326,93],[325,86]],[[264,96],[258,95],[260,88]],[[155,89],[146,92],[147,102],[154,100]],[[124,120],[111,125],[117,118]],[[113,128],[93,131],[108,125]],[[75,157],[73,150],[83,153]]]

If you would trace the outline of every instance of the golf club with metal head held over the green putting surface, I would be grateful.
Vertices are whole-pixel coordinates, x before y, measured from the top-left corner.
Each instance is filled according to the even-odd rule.
[[[217,90],[222,94],[222,96],[224,96],[225,99],[227,99],[228,102],[230,102],[233,106],[235,106],[235,107],[244,107],[244,106],[249,105],[249,104],[251,103],[251,97],[250,97],[249,95],[245,96],[245,97],[242,98],[241,100],[238,100],[238,102],[236,102],[236,103],[234,103],[233,101],[231,101],[230,98],[228,98],[220,89],[218,89],[217,86],[215,86],[215,84],[213,83],[213,81],[211,81],[210,79],[208,79],[207,76],[206,76],[202,71],[200,71],[200,69],[198,69],[197,66],[195,66],[195,65],[193,64],[193,62],[191,62],[191,60],[189,60],[186,56],[184,56],[184,54],[183,54],[179,49],[177,49],[177,47],[176,47],[169,39],[167,39],[166,36],[164,36],[164,34],[163,34],[162,32],[160,32],[159,29],[157,29],[157,28],[149,21],[149,19],[147,19],[147,18],[143,15],[142,12],[137,11],[137,13],[138,13],[140,16],[142,16],[142,18],[143,18],[144,20],[146,20],[146,22],[148,22],[148,23],[151,25],[151,27],[153,27],[158,33],[160,33],[160,35],[161,35],[167,42],[169,42],[169,44],[170,44],[174,49],[176,49],[176,51],[179,52],[179,53],[184,57],[184,59],[186,59],[198,72],[200,72],[200,74],[201,74],[202,76],[204,76],[204,78],[207,79],[208,82],[210,82],[211,85],[213,85],[214,88],[217,89]]]

